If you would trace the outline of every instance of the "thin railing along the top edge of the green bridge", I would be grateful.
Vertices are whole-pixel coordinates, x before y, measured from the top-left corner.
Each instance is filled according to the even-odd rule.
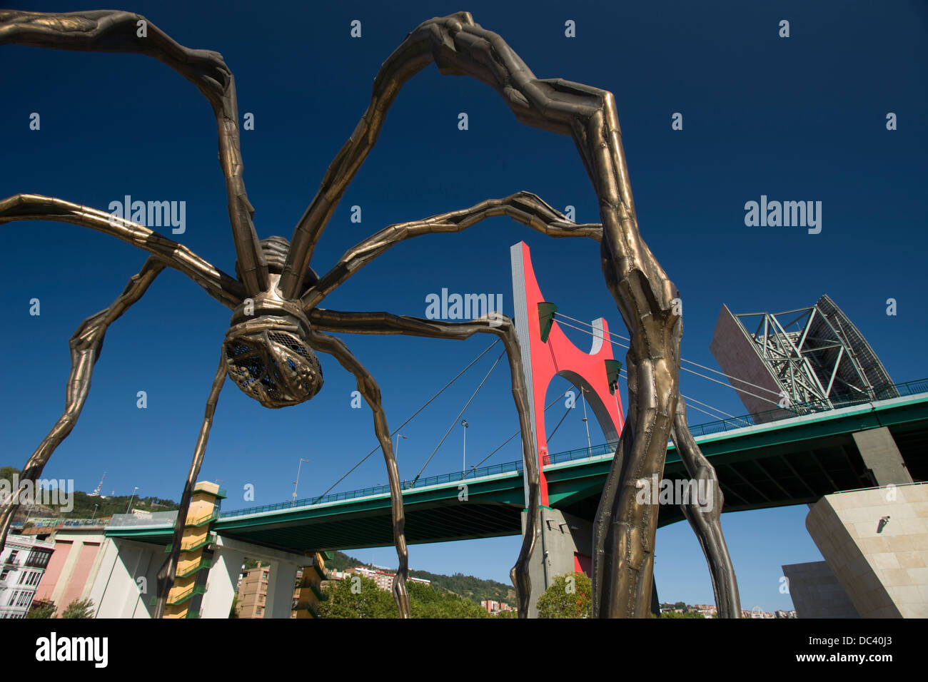
[[[826,410],[836,409],[838,407],[862,405],[874,400],[887,400],[889,398],[896,398],[904,395],[915,395],[917,393],[924,392],[928,392],[928,379],[906,381],[905,383],[897,383],[893,386],[888,386],[883,389],[883,391],[874,392],[872,395],[861,396],[858,399],[846,400],[838,403],[835,403],[834,401],[831,401],[831,403],[826,403],[823,401],[818,403],[806,403],[803,405],[791,405],[788,408],[777,407],[775,409],[767,410],[766,412],[761,412],[754,415],[718,419],[717,421],[690,425],[690,432],[694,437],[705,436],[712,433],[722,433],[725,431],[743,429],[746,426],[754,426],[755,424],[765,424],[770,421],[800,417],[802,415],[813,414],[816,412],[824,412]],[[574,450],[567,450],[566,452],[546,455],[543,458],[544,465],[547,467],[550,464],[570,462],[576,459],[612,455],[612,453],[615,452],[616,445],[617,443],[604,443],[599,445],[590,445],[587,447],[578,447]],[[479,469],[471,469],[469,471],[455,471],[452,473],[440,474],[438,476],[429,476],[428,478],[415,481],[404,481],[401,483],[401,486],[403,490],[413,490],[424,488],[429,485],[455,483],[458,481],[466,481],[468,479],[482,478],[483,476],[493,476],[495,474],[508,473],[510,471],[521,472],[522,460],[520,459],[514,462],[506,462],[504,464],[495,464],[488,467],[481,467]],[[306,497],[300,500],[278,502],[277,504],[273,505],[264,505],[264,507],[252,507],[247,509],[224,511],[219,515],[219,518],[225,519],[232,516],[242,516],[244,514],[257,514],[263,511],[277,511],[281,509],[309,507],[312,505],[326,504],[328,502],[340,502],[342,500],[356,499],[358,497],[367,497],[369,495],[386,495],[389,492],[389,485],[374,485],[368,488],[358,488],[356,490],[346,490],[342,493],[322,495],[321,497]]]

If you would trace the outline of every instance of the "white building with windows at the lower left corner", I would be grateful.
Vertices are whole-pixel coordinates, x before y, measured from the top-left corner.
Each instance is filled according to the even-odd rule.
[[[55,543],[34,535],[6,537],[0,552],[0,618],[23,618],[32,606]]]

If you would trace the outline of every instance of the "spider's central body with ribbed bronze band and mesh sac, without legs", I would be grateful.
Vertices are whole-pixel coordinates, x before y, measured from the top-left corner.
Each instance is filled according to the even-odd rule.
[[[243,303],[226,331],[229,379],[265,407],[309,400],[322,388],[322,367],[306,342],[308,331],[303,311],[275,295]]]

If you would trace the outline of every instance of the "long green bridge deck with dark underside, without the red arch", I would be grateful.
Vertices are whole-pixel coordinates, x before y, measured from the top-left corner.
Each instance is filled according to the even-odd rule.
[[[712,462],[725,495],[724,511],[814,503],[824,495],[879,484],[868,466],[860,431],[888,429],[909,474],[928,480],[928,380],[896,384],[900,397],[808,412],[765,422],[728,418],[691,427]],[[782,413],[782,410],[773,412]],[[549,455],[549,507],[592,521],[615,444]],[[689,479],[673,444],[664,478]],[[403,491],[409,544],[522,533],[522,462],[420,479]],[[660,525],[683,519],[665,506]],[[113,537],[166,545],[173,520],[110,526]],[[393,545],[390,495],[379,485],[323,497],[221,512],[212,530],[253,545],[303,554],[316,550]]]

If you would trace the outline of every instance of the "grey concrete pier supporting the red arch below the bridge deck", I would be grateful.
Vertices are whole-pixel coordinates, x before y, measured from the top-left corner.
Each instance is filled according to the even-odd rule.
[[[543,507],[541,530],[535,535],[535,552],[529,562],[532,596],[529,618],[538,617],[537,601],[559,575],[573,574],[576,556],[593,554],[593,526],[588,521],[565,514],[559,509]],[[526,512],[522,512],[522,532],[525,530]]]

